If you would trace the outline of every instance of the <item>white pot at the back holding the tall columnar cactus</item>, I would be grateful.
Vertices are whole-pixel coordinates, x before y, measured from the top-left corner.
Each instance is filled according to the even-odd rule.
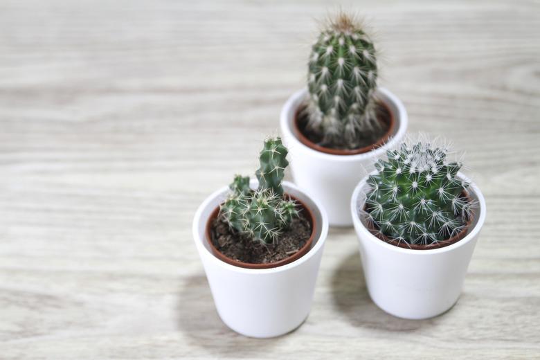
[[[294,131],[296,110],[307,97],[307,89],[294,93],[281,111],[281,133],[289,149],[294,182],[307,194],[321,202],[332,226],[351,226],[349,203],[352,190],[371,172],[376,159],[399,142],[407,129],[407,111],[403,103],[390,91],[377,89],[378,98],[392,112],[394,131],[385,145],[356,155],[333,155],[313,150],[301,143]]]

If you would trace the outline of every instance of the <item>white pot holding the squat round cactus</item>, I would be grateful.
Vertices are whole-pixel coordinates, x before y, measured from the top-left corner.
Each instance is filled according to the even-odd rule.
[[[458,177],[470,181],[461,173]],[[364,178],[354,189],[350,211],[359,239],[366,285],[373,302],[400,318],[431,318],[446,312],[458,301],[484,224],[486,207],[482,192],[471,183],[469,195],[479,205],[462,240],[439,249],[412,250],[379,240],[359,217],[358,210],[366,201],[367,179]]]

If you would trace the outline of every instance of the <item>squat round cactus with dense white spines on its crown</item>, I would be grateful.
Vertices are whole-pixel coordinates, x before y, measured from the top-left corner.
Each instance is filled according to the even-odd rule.
[[[469,183],[457,174],[460,162],[447,160],[447,149],[430,143],[402,144],[388,150],[368,178],[366,214],[390,240],[428,245],[462,231],[473,201],[464,196]]]

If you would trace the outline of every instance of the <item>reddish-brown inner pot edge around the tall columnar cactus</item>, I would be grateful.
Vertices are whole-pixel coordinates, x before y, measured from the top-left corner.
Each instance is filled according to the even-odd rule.
[[[377,118],[379,122],[384,122],[388,125],[388,130],[386,130],[384,135],[381,136],[381,138],[379,138],[379,140],[376,143],[373,143],[368,146],[359,147],[358,149],[354,149],[354,150],[343,150],[343,149],[332,149],[331,147],[324,147],[321,145],[317,145],[313,141],[309,140],[309,138],[307,138],[300,131],[300,127],[298,127],[298,119],[300,118],[300,116],[298,115],[300,114],[300,111],[302,111],[303,106],[298,107],[298,109],[296,110],[296,113],[294,114],[294,121],[293,121],[294,132],[296,134],[296,137],[300,141],[300,143],[303,143],[307,147],[310,147],[313,150],[316,150],[318,152],[324,152],[326,154],[332,154],[332,155],[357,155],[357,154],[363,154],[364,152],[370,152],[371,150],[377,147],[380,147],[381,145],[386,143],[386,141],[388,141],[388,138],[390,138],[390,135],[393,133],[395,129],[395,118],[392,114],[392,111],[390,111],[390,108],[388,108],[388,105],[386,105],[382,101],[377,102],[377,105],[379,105],[380,107],[384,107],[384,112],[388,114],[388,116]]]

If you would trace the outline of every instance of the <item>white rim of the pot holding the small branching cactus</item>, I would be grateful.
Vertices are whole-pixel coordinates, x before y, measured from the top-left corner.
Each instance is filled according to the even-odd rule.
[[[256,188],[257,184],[258,184],[258,181],[256,179],[251,179],[250,181],[251,188]],[[328,233],[328,218],[325,213],[325,210],[321,206],[321,204],[318,201],[316,201],[316,199],[309,197],[309,195],[307,195],[302,190],[298,189],[293,183],[289,181],[283,181],[282,185],[285,188],[285,192],[290,192],[290,190],[294,190],[295,192],[297,192],[297,194],[294,194],[294,196],[300,199],[301,201],[303,201],[304,204],[307,202],[305,201],[305,199],[309,199],[309,201],[311,201],[314,204],[314,209],[310,209],[310,210],[312,210],[312,212],[314,213],[314,219],[316,220],[316,222],[319,221],[318,217],[320,217],[321,231],[318,232],[316,231],[316,229],[314,229],[315,236],[314,236],[313,244],[312,244],[311,249],[309,249],[307,253],[305,253],[303,256],[300,256],[300,258],[294,260],[293,262],[289,262],[288,264],[284,264],[278,267],[271,267],[268,269],[248,269],[245,267],[237,267],[235,265],[228,264],[224,262],[223,260],[219,260],[219,258],[217,258],[210,251],[210,249],[204,246],[204,242],[206,242],[206,223],[208,222],[208,217],[210,216],[211,211],[207,217],[204,217],[204,219],[203,219],[202,214],[210,206],[210,204],[213,203],[216,199],[218,198],[224,199],[226,197],[226,194],[229,191],[229,188],[228,186],[224,186],[216,190],[215,192],[213,192],[211,195],[209,195],[201,203],[201,205],[199,205],[199,208],[197,208],[197,211],[195,212],[195,216],[193,217],[193,222],[192,222],[193,240],[195,240],[195,245],[197,246],[197,250],[199,251],[199,254],[201,254],[201,256],[204,256],[205,258],[208,258],[210,261],[217,264],[224,271],[225,270],[234,271],[236,273],[244,273],[244,274],[280,273],[282,271],[287,271],[288,269],[291,269],[293,267],[298,267],[300,264],[303,264],[303,262],[306,262],[307,260],[312,258],[316,253],[318,253],[318,251],[321,250],[321,248],[323,247],[326,241],[326,237]],[[316,214],[316,211],[314,210],[318,211],[319,216]],[[204,222],[204,231],[202,231],[202,233],[199,231],[199,224],[201,224],[201,222]]]

